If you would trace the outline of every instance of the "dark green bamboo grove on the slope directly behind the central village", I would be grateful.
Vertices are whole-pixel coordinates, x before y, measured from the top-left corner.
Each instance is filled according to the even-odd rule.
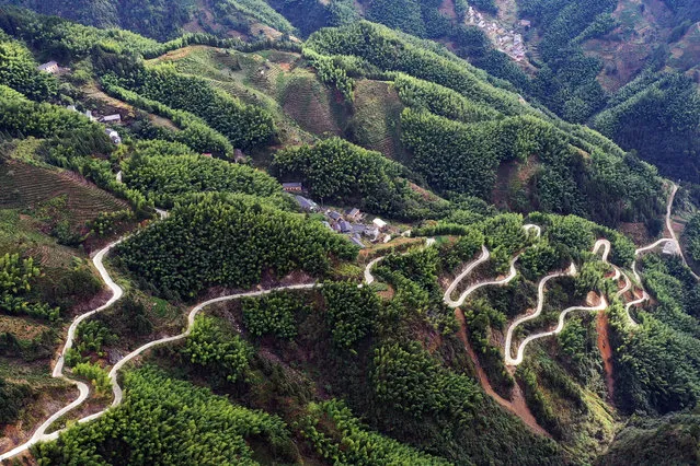
[[[426,200],[412,190],[398,163],[340,138],[279,151],[271,170],[282,179],[303,180],[315,198],[357,201],[377,213],[422,219],[440,217],[449,208],[443,199]]]

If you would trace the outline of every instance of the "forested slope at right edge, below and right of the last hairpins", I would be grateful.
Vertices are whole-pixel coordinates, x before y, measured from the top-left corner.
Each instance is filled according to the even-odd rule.
[[[678,259],[645,257],[642,276],[657,304],[638,313],[640,326],[628,331],[619,305],[611,313],[618,404],[661,413],[692,407],[700,397],[700,326],[689,314],[698,284]]]

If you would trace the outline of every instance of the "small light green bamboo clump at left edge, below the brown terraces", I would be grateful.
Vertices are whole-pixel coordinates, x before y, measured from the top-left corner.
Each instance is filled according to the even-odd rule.
[[[34,317],[58,319],[59,308],[46,303],[27,301],[32,282],[42,273],[32,257],[20,259],[19,254],[0,256],[0,311],[10,314],[26,314]]]

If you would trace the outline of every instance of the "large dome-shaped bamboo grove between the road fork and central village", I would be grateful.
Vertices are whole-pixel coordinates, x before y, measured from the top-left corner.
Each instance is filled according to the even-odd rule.
[[[351,259],[357,251],[318,222],[241,195],[177,206],[117,249],[133,273],[184,296],[214,284],[251,287],[264,269],[279,277],[296,269],[323,275],[329,254]]]

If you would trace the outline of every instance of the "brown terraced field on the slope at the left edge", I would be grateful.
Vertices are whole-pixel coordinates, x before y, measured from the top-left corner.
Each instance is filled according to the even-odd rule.
[[[85,222],[100,212],[128,209],[128,205],[78,175],[42,168],[15,160],[0,164],[0,209],[16,209],[66,197],[71,220]]]

